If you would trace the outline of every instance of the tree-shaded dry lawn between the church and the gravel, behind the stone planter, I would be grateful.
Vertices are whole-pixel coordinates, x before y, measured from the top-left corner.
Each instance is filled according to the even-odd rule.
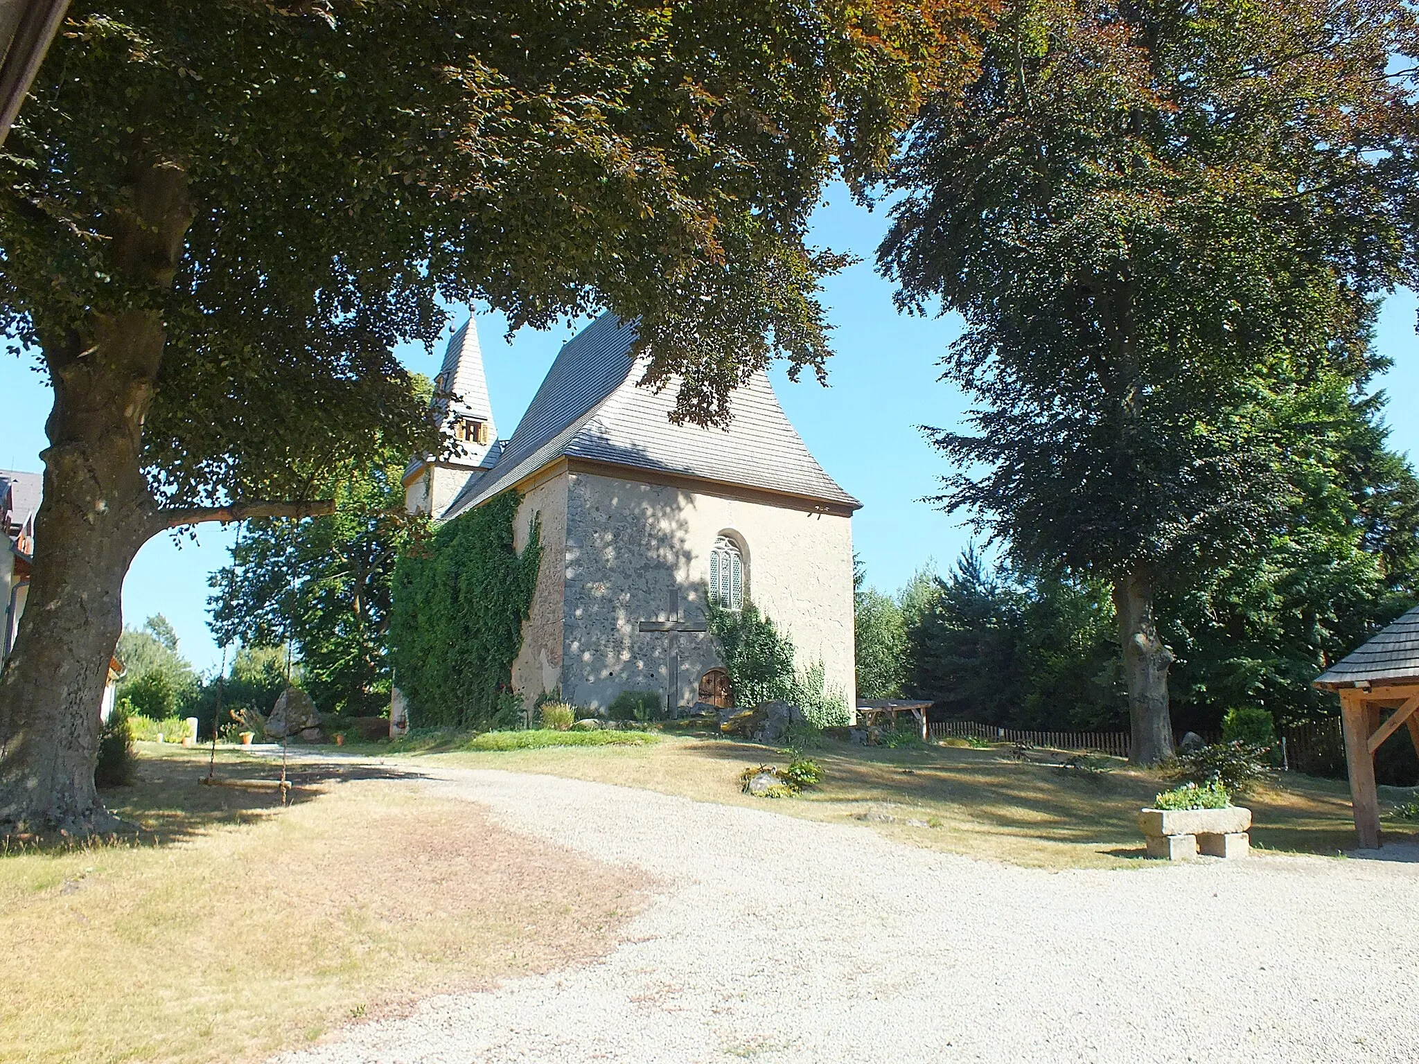
[[[1130,769],[1112,758],[1098,759],[1105,772],[1086,773],[1060,767],[1067,756],[1061,753],[1032,752],[1033,760],[1022,763],[1007,746],[890,750],[827,742],[810,756],[823,766],[823,785],[775,800],[742,793],[739,773],[761,762],[782,765],[782,752],[712,736],[667,736],[639,748],[460,752],[433,759],[863,823],[917,846],[1039,868],[1142,865],[1135,814],[1172,786],[1158,773]],[[1381,787],[1382,802],[1403,797],[1409,792]],[[1334,855],[1355,847],[1342,782],[1290,773],[1240,802],[1253,810],[1252,844],[1259,850]],[[1419,840],[1419,827],[1386,824],[1391,841],[1406,837]]]

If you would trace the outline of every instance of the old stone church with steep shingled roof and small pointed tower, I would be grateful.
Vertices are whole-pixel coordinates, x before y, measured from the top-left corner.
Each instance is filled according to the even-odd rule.
[[[568,342],[517,431],[498,436],[478,335],[453,335],[434,407],[464,454],[416,460],[407,505],[457,521],[515,488],[515,545],[542,526],[542,567],[512,685],[531,702],[561,688],[603,709],[624,689],[670,708],[721,701],[705,597],[746,599],[822,660],[853,704],[853,511],[809,454],[766,375],[731,400],[728,428],[677,426],[675,387],[637,387],[636,326],[606,314]]]

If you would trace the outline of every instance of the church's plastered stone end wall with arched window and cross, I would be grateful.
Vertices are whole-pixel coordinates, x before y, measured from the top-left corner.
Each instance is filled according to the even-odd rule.
[[[566,491],[568,701],[604,708],[627,688],[666,699],[667,637],[637,626],[668,619],[673,590],[681,617],[704,620],[710,549],[721,533],[744,548],[745,592],[788,631],[799,668],[822,658],[829,689],[851,704],[850,518],[586,472],[569,474]],[[675,638],[675,699],[690,705],[719,661],[708,634]]]

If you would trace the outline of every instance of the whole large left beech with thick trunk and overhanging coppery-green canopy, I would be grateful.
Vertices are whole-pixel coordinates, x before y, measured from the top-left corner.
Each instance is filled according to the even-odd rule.
[[[446,301],[639,316],[684,417],[771,358],[820,373],[807,213],[969,74],[965,7],[77,1],[0,156],[0,314],[54,386],[0,821],[104,823],[146,539],[433,445],[389,349]]]

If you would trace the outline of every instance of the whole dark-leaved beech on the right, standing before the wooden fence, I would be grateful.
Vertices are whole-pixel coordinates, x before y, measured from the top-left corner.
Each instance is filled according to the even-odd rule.
[[[937,433],[1022,566],[1111,583],[1134,758],[1172,750],[1155,602],[1284,532],[1419,267],[1405,0],[1019,0],[914,131],[880,264],[965,316]]]

